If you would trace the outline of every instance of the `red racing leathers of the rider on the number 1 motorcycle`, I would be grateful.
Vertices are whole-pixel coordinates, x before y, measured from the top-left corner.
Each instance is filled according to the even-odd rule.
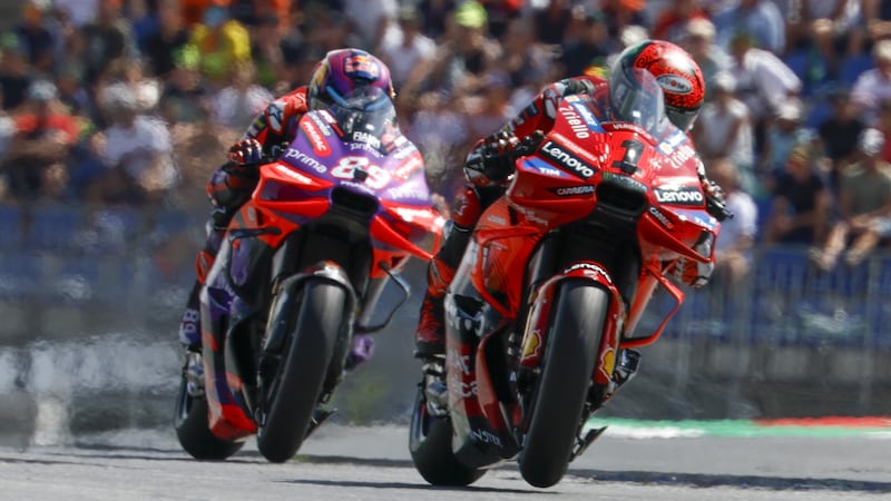
[[[415,332],[415,356],[429,358],[444,353],[443,299],[454,272],[461,262],[478,218],[507,187],[517,146],[533,141],[554,127],[559,101],[564,96],[588,94],[593,97],[594,111],[598,117],[609,117],[609,86],[599,77],[574,77],[546,87],[503,129],[477,141],[463,166],[466,186],[456,198],[451,227],[446,240],[428,267],[428,286],[421,304],[421,315]],[[722,191],[705,176],[699,161],[699,179],[707,195],[721,200]],[[716,215],[723,218],[723,215]],[[712,256],[708,263],[683,259],[668,273],[693,287],[708,282],[714,269],[711,242],[697,247],[703,255]]]

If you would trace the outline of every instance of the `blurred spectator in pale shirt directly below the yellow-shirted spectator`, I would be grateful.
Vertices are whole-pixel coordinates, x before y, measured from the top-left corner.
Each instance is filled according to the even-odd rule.
[[[245,129],[272,100],[272,92],[257,84],[254,65],[242,62],[233,70],[232,84],[210,97],[210,118],[226,127]]]

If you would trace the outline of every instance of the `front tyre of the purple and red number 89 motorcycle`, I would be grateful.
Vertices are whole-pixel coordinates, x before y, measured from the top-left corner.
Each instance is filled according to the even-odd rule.
[[[257,449],[274,463],[290,460],[303,444],[341,326],[349,316],[342,286],[310,282],[300,296],[300,304],[282,310],[297,310],[296,322],[272,382],[273,390],[260,410],[265,419],[257,429]]]

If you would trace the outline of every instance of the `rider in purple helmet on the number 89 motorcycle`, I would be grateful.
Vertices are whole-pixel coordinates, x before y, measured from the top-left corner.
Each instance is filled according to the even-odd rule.
[[[296,136],[297,122],[307,111],[324,109],[361,86],[378,87],[393,98],[390,69],[380,59],[360,49],[332,50],[316,63],[310,84],[270,102],[242,139],[228,150],[228,161],[216,169],[207,184],[213,209],[207,223],[207,242],[196,258],[197,279],[189,293],[179,341],[188,351],[200,352],[199,293],[214,264],[232,217],[251,198],[258,180],[258,167],[277,157]],[[368,360],[373,340],[353,338],[347,369]]]

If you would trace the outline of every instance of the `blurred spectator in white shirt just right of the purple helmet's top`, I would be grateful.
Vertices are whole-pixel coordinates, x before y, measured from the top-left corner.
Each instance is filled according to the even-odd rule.
[[[430,63],[437,53],[437,45],[421,33],[421,17],[415,7],[403,6],[396,20],[399,36],[384,39],[379,52],[381,60],[390,67],[393,85],[402,88],[415,68]]]

